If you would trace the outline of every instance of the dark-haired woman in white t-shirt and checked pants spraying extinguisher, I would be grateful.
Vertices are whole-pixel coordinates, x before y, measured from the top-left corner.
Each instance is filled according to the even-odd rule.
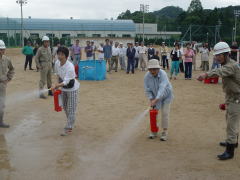
[[[75,79],[74,65],[67,60],[69,56],[68,48],[59,47],[57,55],[58,60],[55,64],[57,83],[51,89],[52,91],[58,88],[62,90],[63,109],[67,116],[67,123],[61,136],[66,136],[72,132],[74,127],[80,83]]]

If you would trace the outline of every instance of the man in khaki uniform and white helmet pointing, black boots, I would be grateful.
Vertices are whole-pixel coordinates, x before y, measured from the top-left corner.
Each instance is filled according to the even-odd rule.
[[[237,146],[240,119],[240,67],[237,62],[230,59],[230,47],[225,42],[219,42],[214,47],[217,61],[222,65],[221,68],[213,69],[208,73],[203,73],[198,80],[206,77],[222,77],[223,91],[225,92],[227,138],[226,150],[218,155],[219,160],[227,160],[234,157],[234,148]],[[224,143],[220,143],[223,145]]]

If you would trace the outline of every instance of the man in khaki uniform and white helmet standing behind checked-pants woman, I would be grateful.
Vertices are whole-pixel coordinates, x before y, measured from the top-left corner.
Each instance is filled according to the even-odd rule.
[[[43,46],[38,49],[35,61],[40,70],[39,97],[46,99],[46,96],[43,94],[43,88],[46,82],[48,89],[52,86],[52,53],[49,47],[49,38],[47,36],[43,36],[42,41]],[[48,91],[48,95],[52,96],[51,90]]]

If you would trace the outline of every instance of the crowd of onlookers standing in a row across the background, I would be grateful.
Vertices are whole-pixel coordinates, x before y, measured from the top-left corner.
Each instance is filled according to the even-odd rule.
[[[52,54],[52,70],[54,71],[54,64],[57,61],[57,49],[60,43],[51,48]],[[78,65],[81,60],[106,60],[107,72],[117,72],[118,67],[120,70],[135,73],[136,69],[142,71],[147,70],[147,63],[150,59],[157,59],[163,70],[169,70],[170,79],[176,80],[179,73],[185,74],[186,80],[192,79],[192,71],[197,69],[196,56],[200,53],[201,65],[200,70],[209,71],[220,67],[216,58],[213,57],[212,66],[210,68],[210,52],[211,48],[208,43],[187,42],[185,44],[176,41],[170,49],[165,42],[162,42],[160,48],[156,48],[153,44],[145,46],[143,42],[127,43],[126,47],[122,42],[113,42],[106,39],[105,43],[100,43],[98,46],[95,42],[86,41],[86,46],[81,47],[80,41],[77,39],[75,44],[69,47],[69,59],[73,65]],[[31,42],[22,49],[22,53],[26,56],[24,70],[26,71],[29,65],[29,70],[33,70],[32,60],[36,56],[38,44],[32,47]],[[237,42],[233,42],[231,48],[231,58],[237,61],[237,53],[239,51]],[[85,53],[85,56],[83,56]],[[36,61],[36,57],[35,57]],[[37,71],[39,70],[36,66]]]

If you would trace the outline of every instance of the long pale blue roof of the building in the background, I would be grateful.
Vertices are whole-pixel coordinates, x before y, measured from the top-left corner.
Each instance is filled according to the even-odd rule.
[[[0,18],[0,30],[20,30],[20,18]],[[132,31],[132,20],[23,19],[25,30],[50,31]]]

